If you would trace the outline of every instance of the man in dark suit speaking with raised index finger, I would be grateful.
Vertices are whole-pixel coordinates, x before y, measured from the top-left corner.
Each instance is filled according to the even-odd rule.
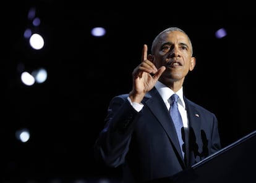
[[[184,79],[195,67],[189,36],[180,28],[167,28],[147,52],[144,45],[132,90],[109,103],[105,128],[95,143],[97,160],[122,166],[125,183],[171,180],[221,148],[216,116],[183,93]],[[183,125],[177,131],[169,113],[173,94],[179,96]]]

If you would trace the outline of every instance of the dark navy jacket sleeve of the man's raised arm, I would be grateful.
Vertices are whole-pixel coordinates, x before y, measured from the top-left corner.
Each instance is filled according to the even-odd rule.
[[[94,150],[97,161],[111,167],[124,163],[138,113],[130,105],[127,95],[114,97],[109,103],[105,127],[96,139]]]

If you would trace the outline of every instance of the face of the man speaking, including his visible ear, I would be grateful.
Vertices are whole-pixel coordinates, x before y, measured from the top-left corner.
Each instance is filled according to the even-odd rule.
[[[157,68],[166,67],[161,80],[184,80],[189,70],[193,70],[195,66],[189,39],[181,31],[164,33],[160,39],[156,46],[153,63]]]

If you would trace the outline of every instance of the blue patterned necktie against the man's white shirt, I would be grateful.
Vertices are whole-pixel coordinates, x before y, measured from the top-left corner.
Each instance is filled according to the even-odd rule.
[[[177,137],[179,139],[179,145],[181,146],[181,152],[184,157],[184,152],[182,150],[182,145],[184,144],[184,142],[182,140],[182,133],[181,133],[181,128],[183,127],[183,123],[182,123],[181,113],[179,113],[179,109],[177,105],[178,99],[179,99],[179,96],[177,94],[173,94],[173,96],[171,96],[171,100],[173,101],[173,104],[171,105],[171,108],[170,108],[170,115],[171,115],[171,118],[173,119],[173,123],[177,132]]]

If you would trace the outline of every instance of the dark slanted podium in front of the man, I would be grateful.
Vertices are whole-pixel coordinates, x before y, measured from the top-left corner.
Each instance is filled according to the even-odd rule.
[[[171,179],[172,183],[256,183],[256,131]]]

